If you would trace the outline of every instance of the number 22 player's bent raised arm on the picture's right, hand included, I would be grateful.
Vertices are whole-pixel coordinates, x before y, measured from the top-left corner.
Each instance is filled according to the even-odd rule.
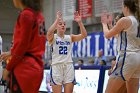
[[[72,42],[77,42],[87,37],[87,31],[84,27],[81,16],[79,15],[77,11],[74,13],[74,20],[78,23],[81,34],[71,35],[71,38],[72,38]]]

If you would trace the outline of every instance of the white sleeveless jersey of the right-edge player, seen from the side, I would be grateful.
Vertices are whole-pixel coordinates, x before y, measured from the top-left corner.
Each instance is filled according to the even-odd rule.
[[[118,37],[118,51],[140,51],[140,31],[138,31],[138,22],[134,16],[128,16],[132,25],[122,31]]]

